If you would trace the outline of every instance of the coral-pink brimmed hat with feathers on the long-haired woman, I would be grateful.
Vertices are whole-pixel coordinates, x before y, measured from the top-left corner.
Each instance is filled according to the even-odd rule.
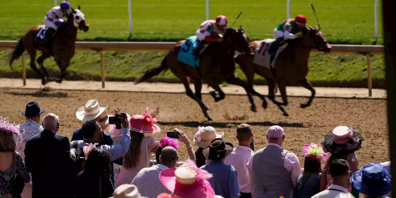
[[[143,115],[137,114],[129,120],[129,128],[140,133],[154,134],[161,131],[160,127],[155,125],[157,118],[152,118],[148,112],[149,107],[146,107]]]

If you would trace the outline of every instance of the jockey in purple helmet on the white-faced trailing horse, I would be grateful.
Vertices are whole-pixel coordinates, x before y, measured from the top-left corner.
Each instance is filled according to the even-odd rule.
[[[46,32],[44,37],[45,39],[50,37],[49,35],[53,34],[53,32],[55,32],[59,26],[66,23],[62,18],[69,16],[69,9],[69,2],[62,1],[59,6],[55,6],[47,12],[47,15],[44,17],[44,25],[46,25],[49,29]]]

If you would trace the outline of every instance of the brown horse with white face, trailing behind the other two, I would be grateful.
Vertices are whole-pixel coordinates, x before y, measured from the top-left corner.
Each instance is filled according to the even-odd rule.
[[[10,67],[13,69],[12,62],[19,58],[26,49],[30,55],[30,67],[40,75],[41,82],[45,85],[46,82],[53,81],[54,79],[48,78],[49,74],[43,62],[45,59],[53,56],[56,64],[61,69],[61,75],[55,79],[55,82],[61,83],[66,77],[66,69],[69,67],[70,59],[72,59],[74,55],[77,28],[86,32],[88,31],[89,25],[85,21],[85,15],[80,10],[80,6],[78,6],[78,10],[72,9],[69,17],[67,17],[67,23],[61,25],[53,34],[50,43],[43,42],[38,38],[45,34],[41,29],[43,26],[44,25],[36,25],[32,27],[21,40],[19,40],[15,50],[11,53]],[[44,74],[36,67],[35,59],[37,50],[42,51],[42,55],[38,57],[37,63],[40,65]]]

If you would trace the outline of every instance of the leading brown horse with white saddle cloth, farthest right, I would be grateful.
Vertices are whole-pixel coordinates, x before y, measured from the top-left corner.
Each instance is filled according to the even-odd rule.
[[[299,85],[311,91],[311,96],[307,103],[300,105],[301,108],[309,107],[315,97],[315,89],[306,78],[308,74],[308,58],[312,48],[316,48],[324,53],[331,51],[330,44],[322,34],[320,29],[316,27],[307,27],[303,29],[303,37],[294,40],[288,40],[288,45],[281,51],[275,60],[274,68],[268,69],[261,65],[253,63],[254,56],[238,54],[235,61],[239,64],[241,70],[247,77],[249,89],[253,89],[254,74],[259,74],[268,83],[268,98],[274,101],[274,88],[278,84],[282,95],[283,103],[275,101],[279,105],[287,106],[286,86]],[[255,49],[261,46],[263,40],[252,41],[249,46]],[[284,116],[289,114],[280,107],[284,112]]]

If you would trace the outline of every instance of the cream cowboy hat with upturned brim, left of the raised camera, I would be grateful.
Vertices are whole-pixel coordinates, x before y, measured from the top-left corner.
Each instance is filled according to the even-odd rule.
[[[85,106],[80,107],[76,111],[76,117],[78,120],[87,121],[91,119],[97,118],[103,111],[105,111],[109,107],[99,107],[99,103],[97,100],[89,100]]]

